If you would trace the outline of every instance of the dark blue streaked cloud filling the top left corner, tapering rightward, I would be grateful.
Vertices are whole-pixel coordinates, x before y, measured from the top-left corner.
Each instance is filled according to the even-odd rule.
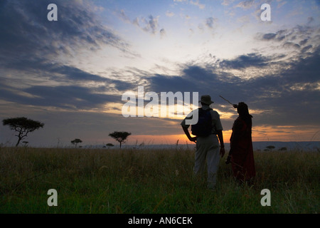
[[[50,1],[2,1],[0,20],[1,57],[34,58],[70,54],[85,46],[95,50],[110,45],[127,51],[127,43],[95,19],[78,1],[55,1],[58,21],[48,21]],[[9,59],[12,61],[12,59]]]

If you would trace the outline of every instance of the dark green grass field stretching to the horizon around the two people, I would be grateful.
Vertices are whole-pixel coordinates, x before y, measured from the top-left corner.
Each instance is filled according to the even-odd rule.
[[[319,152],[255,152],[252,187],[225,158],[212,191],[193,176],[194,150],[0,147],[0,213],[319,213]]]

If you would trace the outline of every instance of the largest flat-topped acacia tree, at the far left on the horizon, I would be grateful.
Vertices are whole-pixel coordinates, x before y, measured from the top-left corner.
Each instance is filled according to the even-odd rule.
[[[23,138],[28,136],[28,133],[43,128],[44,123],[41,123],[36,120],[31,120],[25,117],[18,118],[7,118],[2,120],[3,125],[9,125],[11,130],[15,130],[18,134],[15,135],[18,137],[18,142],[16,142],[16,147],[19,145],[20,141]]]

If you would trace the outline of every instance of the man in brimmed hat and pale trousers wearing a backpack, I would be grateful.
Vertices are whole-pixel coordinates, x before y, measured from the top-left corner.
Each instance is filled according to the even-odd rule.
[[[182,122],[181,126],[184,133],[192,142],[196,142],[196,156],[195,156],[195,166],[194,173],[200,175],[205,169],[205,164],[207,160],[208,167],[208,188],[214,189],[216,183],[216,173],[218,171],[218,165],[220,162],[220,156],[225,155],[225,148],[223,143],[223,127],[220,122],[220,115],[217,111],[210,108],[210,104],[213,101],[210,95],[202,95],[201,108],[198,108],[198,123],[202,123],[202,126],[192,125],[192,134],[197,134],[196,137],[191,137],[188,128],[190,125],[186,125],[186,119],[193,118],[193,110]],[[206,121],[209,118],[209,121]],[[193,130],[194,129],[194,130]],[[207,132],[208,130],[208,133]],[[196,133],[193,133],[196,132]],[[218,137],[217,137],[218,135]],[[219,142],[220,141],[220,156],[219,156]]]

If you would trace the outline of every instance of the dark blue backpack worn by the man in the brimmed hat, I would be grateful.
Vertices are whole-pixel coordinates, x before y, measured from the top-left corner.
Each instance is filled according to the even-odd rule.
[[[211,108],[203,110],[198,108],[198,123],[191,125],[192,135],[198,137],[206,137],[212,133],[212,118],[211,118]]]

